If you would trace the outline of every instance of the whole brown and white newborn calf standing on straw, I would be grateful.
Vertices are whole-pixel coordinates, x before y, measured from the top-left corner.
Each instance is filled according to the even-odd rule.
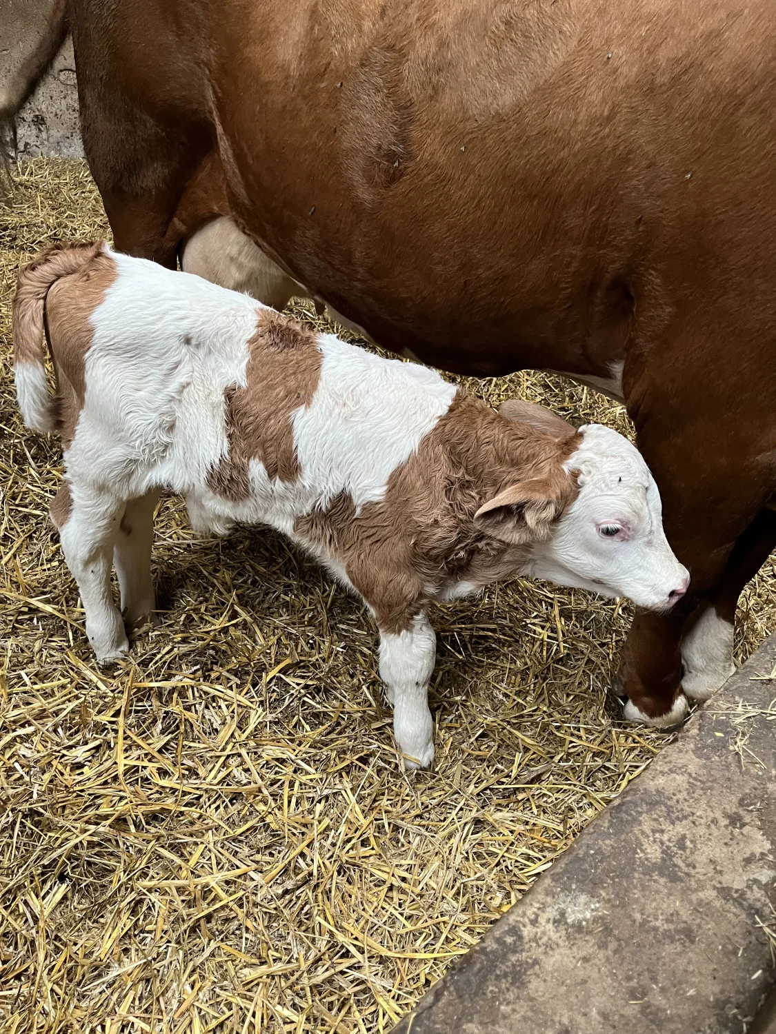
[[[112,561],[125,617],[154,608],[161,489],[185,496],[196,530],[271,524],[361,595],[412,766],[434,757],[429,599],[515,574],[655,610],[687,588],[655,483],[606,427],[577,431],[517,401],[497,413],[429,369],[100,242],[39,255],[13,316],[25,423],[62,437],[52,518],[101,662],[128,648]],[[678,694],[666,724],[685,708]]]

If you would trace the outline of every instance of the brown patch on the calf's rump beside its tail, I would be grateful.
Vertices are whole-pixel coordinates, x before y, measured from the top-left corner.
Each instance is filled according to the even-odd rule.
[[[91,316],[118,276],[115,262],[100,247],[97,242],[88,262],[57,279],[47,300],[46,321],[57,375],[57,426],[65,449],[72,442],[86,395]]]

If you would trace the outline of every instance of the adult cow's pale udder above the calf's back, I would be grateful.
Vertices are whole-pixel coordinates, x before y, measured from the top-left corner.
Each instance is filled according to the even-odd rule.
[[[307,294],[227,216],[191,234],[182,248],[181,268],[275,309],[285,308],[295,295]]]

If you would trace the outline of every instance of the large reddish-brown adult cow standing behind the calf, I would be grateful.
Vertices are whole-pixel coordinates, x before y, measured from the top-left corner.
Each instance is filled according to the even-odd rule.
[[[394,351],[622,394],[693,591],[636,617],[620,678],[656,719],[680,683],[716,689],[776,545],[773,0],[73,0],[69,17],[117,247],[173,266],[227,216]]]

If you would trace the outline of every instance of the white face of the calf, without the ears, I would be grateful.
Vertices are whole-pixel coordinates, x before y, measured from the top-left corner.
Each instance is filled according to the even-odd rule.
[[[566,463],[579,494],[546,542],[532,547],[521,572],[600,596],[630,598],[651,610],[673,604],[689,575],[663,531],[660,494],[639,452],[608,427],[579,428],[583,444]],[[601,524],[630,527],[626,541],[603,539]]]

